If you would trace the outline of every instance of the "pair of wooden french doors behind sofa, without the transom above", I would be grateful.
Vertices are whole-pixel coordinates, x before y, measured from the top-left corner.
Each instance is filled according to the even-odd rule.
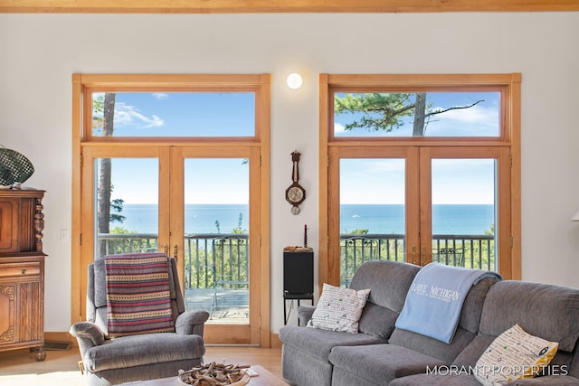
[[[331,146],[327,281],[365,260],[431,261],[510,276],[508,147]],[[332,184],[335,182],[335,184]],[[333,187],[332,187],[333,186]]]

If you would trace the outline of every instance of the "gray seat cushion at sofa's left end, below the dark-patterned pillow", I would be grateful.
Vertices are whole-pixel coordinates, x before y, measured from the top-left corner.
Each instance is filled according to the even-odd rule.
[[[317,328],[285,325],[280,328],[280,340],[309,353],[327,360],[330,351],[335,346],[352,346],[360,344],[384,344],[385,340],[368,334],[346,334],[338,331],[320,330]]]

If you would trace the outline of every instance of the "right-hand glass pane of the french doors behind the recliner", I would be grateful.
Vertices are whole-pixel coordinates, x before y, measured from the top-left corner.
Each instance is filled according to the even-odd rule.
[[[249,164],[185,159],[185,300],[208,323],[249,324]]]

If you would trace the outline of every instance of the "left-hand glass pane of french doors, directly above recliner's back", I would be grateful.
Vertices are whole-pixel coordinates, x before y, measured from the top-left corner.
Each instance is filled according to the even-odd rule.
[[[95,159],[95,257],[158,249],[157,158]]]

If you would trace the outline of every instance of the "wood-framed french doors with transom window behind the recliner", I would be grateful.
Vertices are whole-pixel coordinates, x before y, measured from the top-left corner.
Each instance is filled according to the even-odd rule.
[[[205,342],[268,347],[270,75],[72,75],[73,322],[105,254],[176,258]]]

